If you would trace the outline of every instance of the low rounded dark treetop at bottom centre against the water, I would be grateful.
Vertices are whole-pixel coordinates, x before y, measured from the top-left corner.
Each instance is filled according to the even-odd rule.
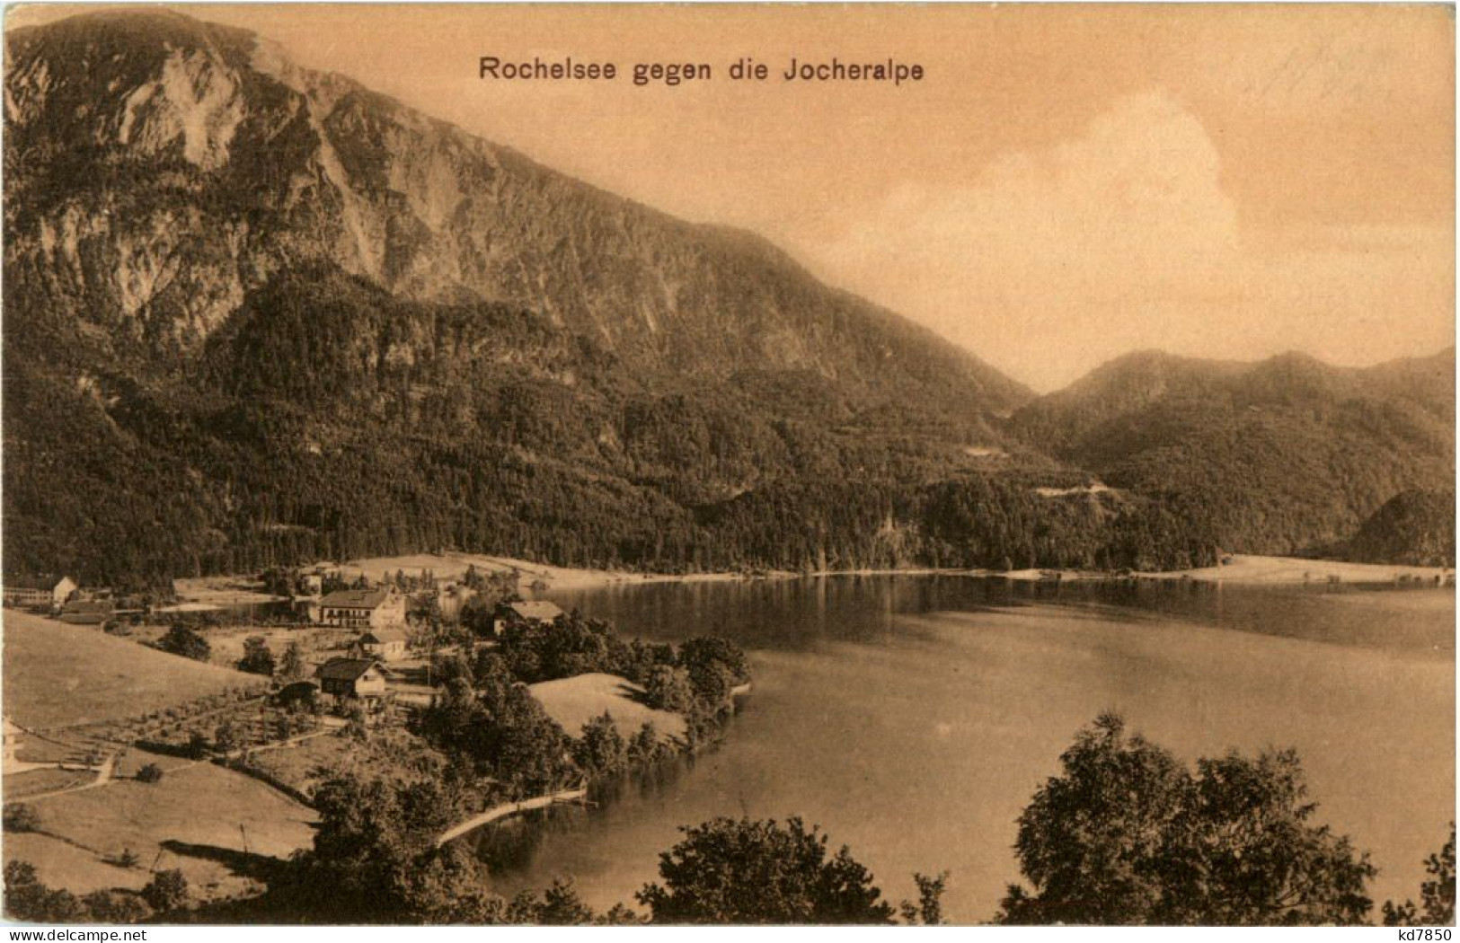
[[[682,829],[660,854],[663,886],[647,885],[639,904],[654,923],[676,924],[886,924],[892,907],[872,874],[844,845],[800,819],[718,817]]]

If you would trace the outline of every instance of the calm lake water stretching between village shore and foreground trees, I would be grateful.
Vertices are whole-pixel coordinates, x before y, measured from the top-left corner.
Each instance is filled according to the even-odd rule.
[[[1298,749],[1318,817],[1371,851],[1375,901],[1418,896],[1454,817],[1454,591],[828,577],[548,593],[676,641],[721,634],[755,692],[726,743],[477,836],[499,892],[572,876],[597,908],[657,874],[677,826],[800,815],[898,899],[952,871],[990,918],[1015,819],[1107,709],[1186,759]],[[1377,908],[1375,908],[1377,911]]]

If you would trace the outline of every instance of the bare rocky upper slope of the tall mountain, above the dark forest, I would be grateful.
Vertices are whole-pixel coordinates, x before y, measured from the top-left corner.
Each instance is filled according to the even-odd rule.
[[[99,13],[7,35],[6,264],[22,323],[188,353],[283,269],[507,302],[675,374],[800,369],[968,409],[1028,399],[749,234],[542,168],[244,31]],[[12,279],[7,279],[7,286]]]

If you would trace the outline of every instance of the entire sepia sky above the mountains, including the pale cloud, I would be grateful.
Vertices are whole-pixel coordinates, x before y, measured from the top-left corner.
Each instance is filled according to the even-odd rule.
[[[7,25],[77,7],[10,7]],[[1454,343],[1444,6],[177,7],[552,168],[743,226],[1040,391],[1121,353]],[[504,60],[707,63],[508,82]],[[921,82],[804,83],[802,61]],[[731,82],[740,57],[768,82]]]

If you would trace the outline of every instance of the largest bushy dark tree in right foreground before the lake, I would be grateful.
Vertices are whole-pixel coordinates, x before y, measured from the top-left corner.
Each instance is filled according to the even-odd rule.
[[[1105,714],[1080,730],[1019,816],[1034,892],[1004,924],[1353,924],[1374,867],[1310,823],[1296,753],[1202,759],[1193,775]]]

